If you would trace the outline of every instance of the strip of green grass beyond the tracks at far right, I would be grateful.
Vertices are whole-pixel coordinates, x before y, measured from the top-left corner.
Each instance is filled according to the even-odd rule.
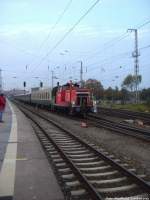
[[[125,105],[112,105],[112,108],[127,109],[139,112],[150,112],[150,105],[147,104],[125,104]]]

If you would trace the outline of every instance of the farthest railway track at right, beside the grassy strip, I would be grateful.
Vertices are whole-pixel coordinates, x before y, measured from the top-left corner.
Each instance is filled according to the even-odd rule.
[[[145,124],[150,124],[150,114],[148,113],[102,107],[98,107],[98,112],[103,113],[105,115],[116,116],[121,118],[140,119]]]

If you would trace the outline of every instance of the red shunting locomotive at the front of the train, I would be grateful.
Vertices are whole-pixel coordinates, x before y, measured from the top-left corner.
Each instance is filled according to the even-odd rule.
[[[55,96],[55,106],[70,112],[89,112],[93,109],[91,91],[78,84],[67,83],[59,86]]]

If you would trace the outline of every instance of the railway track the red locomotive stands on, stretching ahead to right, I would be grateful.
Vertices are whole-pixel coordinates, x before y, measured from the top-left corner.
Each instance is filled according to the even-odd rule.
[[[146,129],[136,128],[122,123],[116,123],[106,118],[102,118],[97,114],[89,114],[87,119],[96,127],[106,128],[114,132],[142,139],[144,141],[150,141],[150,131]]]

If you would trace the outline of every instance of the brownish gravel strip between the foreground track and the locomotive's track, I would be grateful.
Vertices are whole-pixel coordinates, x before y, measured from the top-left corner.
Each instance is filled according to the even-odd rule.
[[[44,113],[67,130],[71,130],[76,135],[96,144],[100,148],[104,148],[110,154],[115,155],[115,158],[120,158],[122,161],[129,163],[137,169],[138,173],[146,174],[150,180],[150,145],[148,142],[91,125],[82,128],[81,121],[50,112],[44,111]]]

